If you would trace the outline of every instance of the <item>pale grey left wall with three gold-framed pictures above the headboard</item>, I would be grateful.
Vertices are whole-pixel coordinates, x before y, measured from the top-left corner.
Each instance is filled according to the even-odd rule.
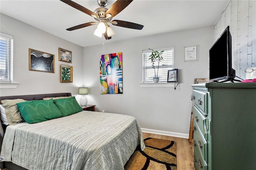
[[[16,89],[0,89],[1,96],[62,93],[78,94],[83,86],[83,48],[38,28],[0,14],[0,31],[14,38],[14,83]],[[72,63],[58,61],[58,47],[72,51]],[[55,55],[55,73],[29,71],[28,49]],[[73,66],[73,83],[60,83],[60,65]]]

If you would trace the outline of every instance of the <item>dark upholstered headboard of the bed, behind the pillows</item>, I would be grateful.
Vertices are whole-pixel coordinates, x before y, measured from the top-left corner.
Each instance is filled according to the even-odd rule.
[[[18,95],[18,96],[0,96],[0,101],[5,99],[24,99],[26,101],[32,100],[42,100],[45,97],[66,97],[71,96],[71,93],[49,93],[49,94],[38,94],[38,95]],[[0,102],[2,104],[2,102]],[[0,124],[0,152],[2,148],[2,141],[4,138],[4,128],[2,124]],[[2,162],[0,164],[0,168],[2,168]]]

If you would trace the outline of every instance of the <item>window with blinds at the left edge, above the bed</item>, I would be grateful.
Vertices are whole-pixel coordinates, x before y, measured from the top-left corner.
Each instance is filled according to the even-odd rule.
[[[0,82],[12,82],[13,37],[0,33]]]

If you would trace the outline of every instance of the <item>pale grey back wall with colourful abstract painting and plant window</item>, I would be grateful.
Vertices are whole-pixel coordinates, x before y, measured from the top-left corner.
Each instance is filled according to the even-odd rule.
[[[84,47],[84,84],[89,87],[88,104],[95,104],[97,111],[132,115],[142,128],[188,134],[191,85],[195,78],[208,77],[208,50],[212,42],[213,28],[206,27]],[[184,47],[194,45],[199,46],[199,61],[185,62]],[[174,46],[174,65],[179,69],[177,89],[140,87],[142,50],[169,46]],[[115,52],[123,53],[123,94],[101,95],[100,56]]]

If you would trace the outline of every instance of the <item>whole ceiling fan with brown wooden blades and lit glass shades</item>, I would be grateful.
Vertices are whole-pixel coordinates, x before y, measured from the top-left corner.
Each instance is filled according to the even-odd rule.
[[[87,22],[84,24],[80,24],[78,26],[74,26],[71,28],[68,28],[66,30],[72,31],[72,30],[77,30],[80,28],[92,26],[95,24],[98,24],[94,35],[98,37],[102,37],[102,34],[104,34],[104,37],[106,40],[111,39],[111,36],[115,34],[114,30],[108,25],[113,24],[114,26],[120,26],[120,27],[125,27],[125,28],[131,28],[131,29],[136,29],[136,30],[142,30],[143,26],[140,24],[132,23],[132,22],[127,22],[127,21],[121,21],[121,20],[113,20],[112,18],[119,14],[124,8],[126,8],[133,0],[117,0],[110,6],[110,8],[105,8],[108,4],[108,0],[97,0],[98,5],[100,8],[97,8],[94,10],[94,12],[88,10],[87,8],[84,8],[83,6],[77,4],[76,2],[73,2],[72,0],[60,0],[69,6],[72,6],[73,8],[76,8],[77,10],[80,10],[84,12],[85,14],[88,14],[92,16],[96,22]]]

